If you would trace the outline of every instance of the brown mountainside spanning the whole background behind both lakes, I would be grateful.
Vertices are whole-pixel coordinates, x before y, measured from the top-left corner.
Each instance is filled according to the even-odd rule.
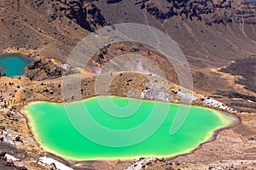
[[[230,0],[2,0],[0,44],[2,50],[36,50],[65,62],[88,31],[135,22],[165,31],[192,67],[223,66],[255,54],[255,5]]]

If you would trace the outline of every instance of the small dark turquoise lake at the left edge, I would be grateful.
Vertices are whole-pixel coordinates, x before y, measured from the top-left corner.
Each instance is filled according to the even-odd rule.
[[[1,73],[5,73],[7,77],[22,76],[25,73],[27,65],[31,62],[31,59],[20,54],[0,55],[0,66],[3,67]]]

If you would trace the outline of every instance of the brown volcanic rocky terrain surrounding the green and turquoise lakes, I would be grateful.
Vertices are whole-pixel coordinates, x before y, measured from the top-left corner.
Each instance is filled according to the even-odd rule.
[[[102,48],[91,57],[86,70],[66,69],[69,54],[90,32],[122,23],[153,26],[177,42],[189,62],[194,92],[178,86],[177,73],[165,55],[137,42],[115,42]],[[255,168],[255,35],[256,2],[243,0],[0,0],[0,54],[27,54],[34,60],[24,77],[0,79],[0,169],[55,168],[38,164],[41,156],[52,157],[73,169]],[[37,100],[61,102],[63,72],[76,77],[82,70],[81,94],[83,98],[95,96],[96,75],[111,59],[122,54],[146,56],[167,80],[134,72],[139,65],[131,62],[130,72],[111,75],[115,79],[108,93],[127,96],[132,88],[145,91],[148,82],[154,86],[156,81],[171,89],[166,93],[174,98],[167,101],[182,102],[180,91],[197,98],[193,105],[216,99],[234,109],[229,112],[241,122],[219,132],[216,139],[202,144],[198,150],[170,160],[78,162],[43,150],[33,139],[26,116],[20,112],[22,106]],[[145,98],[163,100],[156,94],[159,91]],[[68,101],[75,99],[70,96]],[[136,93],[128,96],[139,98]],[[6,153],[20,160],[7,158]]]

